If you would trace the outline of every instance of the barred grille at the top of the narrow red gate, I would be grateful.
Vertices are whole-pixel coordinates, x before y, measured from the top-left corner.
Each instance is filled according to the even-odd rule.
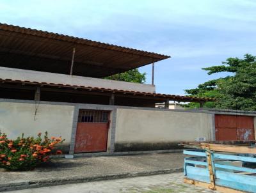
[[[80,110],[78,122],[108,123],[109,111]]]

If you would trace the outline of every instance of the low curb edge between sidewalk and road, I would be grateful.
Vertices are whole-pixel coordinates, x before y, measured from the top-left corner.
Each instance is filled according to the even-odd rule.
[[[22,181],[17,183],[0,184],[0,192],[10,190],[33,189],[38,187],[49,187],[54,185],[65,185],[71,183],[83,183],[89,181],[115,180],[120,178],[132,178],[137,176],[149,176],[156,174],[170,174],[182,172],[183,168],[163,169],[155,171],[142,171],[131,173],[107,174],[102,176],[69,176],[65,178],[50,178],[45,180]]]

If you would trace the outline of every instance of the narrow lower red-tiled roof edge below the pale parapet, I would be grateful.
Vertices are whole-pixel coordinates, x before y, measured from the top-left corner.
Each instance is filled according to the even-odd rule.
[[[207,102],[207,101],[215,101],[214,98],[199,98],[193,96],[180,96],[180,95],[167,95],[160,93],[145,93],[145,92],[137,92],[137,91],[126,91],[120,89],[108,89],[108,88],[97,88],[90,86],[77,86],[70,84],[54,84],[48,82],[31,82],[31,81],[20,81],[20,80],[12,80],[12,79],[0,79],[0,87],[1,84],[21,84],[21,86],[46,86],[52,88],[67,88],[67,89],[76,89],[76,90],[84,90],[84,91],[94,91],[94,92],[106,92],[106,93],[116,93],[122,95],[136,95],[136,96],[147,96],[148,98],[163,98],[169,100],[175,100],[178,102]]]

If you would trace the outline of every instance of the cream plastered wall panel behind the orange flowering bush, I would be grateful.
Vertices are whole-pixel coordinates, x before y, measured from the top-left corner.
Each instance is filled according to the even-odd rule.
[[[0,129],[8,138],[15,139],[22,132],[25,137],[47,131],[49,136],[70,143],[74,107],[68,105],[40,104],[35,116],[35,104],[0,102]],[[35,117],[35,120],[34,120]]]

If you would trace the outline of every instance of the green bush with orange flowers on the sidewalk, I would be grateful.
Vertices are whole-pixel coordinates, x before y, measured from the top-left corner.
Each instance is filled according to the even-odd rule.
[[[42,162],[49,160],[56,144],[63,143],[61,137],[44,137],[39,133],[37,137],[17,137],[8,139],[6,134],[0,132],[0,167],[10,171],[28,171],[34,169]],[[56,154],[61,154],[60,150]]]

